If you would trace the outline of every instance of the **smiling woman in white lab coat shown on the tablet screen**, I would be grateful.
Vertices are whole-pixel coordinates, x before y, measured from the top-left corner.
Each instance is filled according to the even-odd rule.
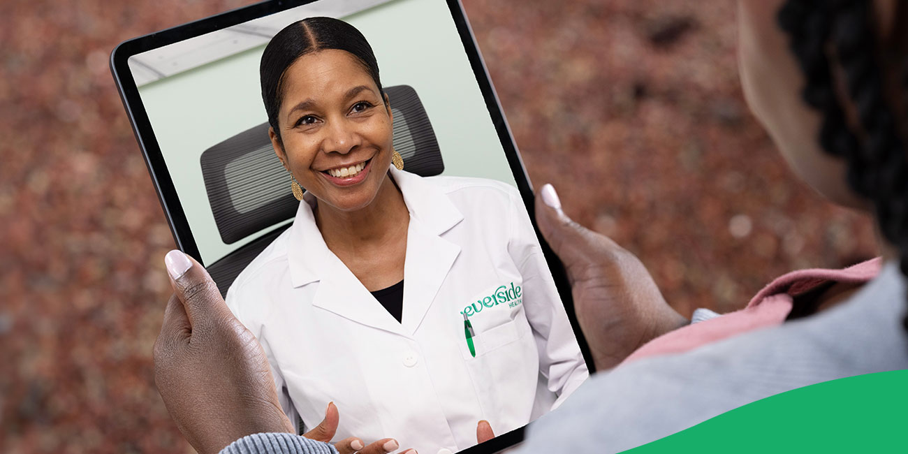
[[[291,420],[420,452],[476,444],[587,378],[516,189],[403,170],[370,44],[316,17],[262,54],[271,143],[301,199],[242,271],[231,310],[262,343]],[[456,152],[456,151],[455,151]]]

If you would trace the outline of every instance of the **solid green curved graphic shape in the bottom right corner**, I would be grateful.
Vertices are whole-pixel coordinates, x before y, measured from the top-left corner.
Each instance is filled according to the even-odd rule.
[[[893,370],[776,394],[625,452],[908,452],[906,434],[908,370]]]

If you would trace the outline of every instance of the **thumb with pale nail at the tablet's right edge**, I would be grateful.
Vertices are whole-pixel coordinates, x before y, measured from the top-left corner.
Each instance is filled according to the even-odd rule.
[[[558,192],[555,192],[551,184],[545,184],[539,190],[536,221],[539,232],[542,232],[542,236],[568,271],[574,265],[588,261],[590,252],[617,247],[607,236],[592,232],[572,221],[562,211]]]

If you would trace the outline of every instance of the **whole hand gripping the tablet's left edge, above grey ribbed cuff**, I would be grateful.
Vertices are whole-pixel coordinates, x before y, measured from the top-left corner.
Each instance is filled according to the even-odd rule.
[[[177,428],[200,454],[260,432],[293,432],[262,346],[183,252],[164,262],[173,296],[154,342],[154,382]]]

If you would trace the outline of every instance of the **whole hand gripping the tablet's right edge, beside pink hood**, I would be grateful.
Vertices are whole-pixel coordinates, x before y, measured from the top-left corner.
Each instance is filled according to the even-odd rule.
[[[568,272],[577,321],[597,370],[617,366],[647,341],[687,324],[634,254],[571,221],[551,184],[538,195],[539,230]]]

